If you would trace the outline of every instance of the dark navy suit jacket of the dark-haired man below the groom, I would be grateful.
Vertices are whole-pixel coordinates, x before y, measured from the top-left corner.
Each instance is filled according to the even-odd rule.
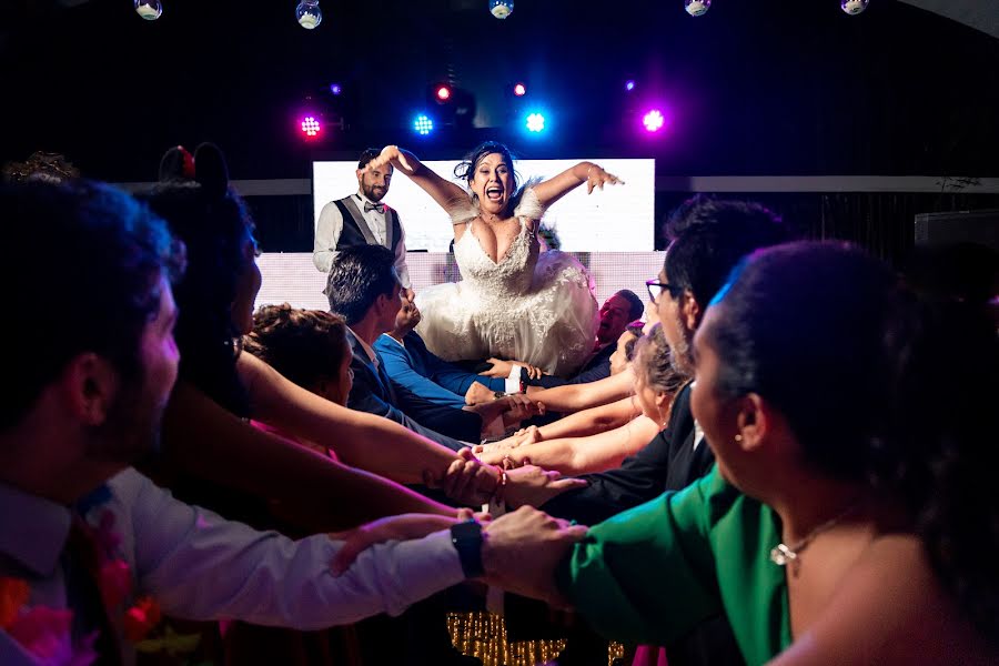
[[[428,427],[424,427],[421,424],[416,423],[408,416],[406,416],[398,407],[395,406],[395,389],[392,386],[389,376],[385,374],[384,370],[382,370],[381,363],[375,365],[372,363],[371,359],[367,357],[367,352],[364,351],[364,347],[361,346],[361,342],[357,340],[356,335],[354,335],[353,331],[347,329],[347,342],[351,344],[351,370],[354,371],[354,385],[351,389],[351,394],[347,397],[347,406],[352,410],[357,410],[359,412],[367,412],[369,414],[377,414],[379,416],[384,416],[385,418],[391,418],[392,421],[403,425],[414,433],[421,434],[428,440],[433,440],[438,444],[443,444],[453,451],[458,451],[464,446],[468,446],[468,442],[462,442],[455,440],[453,437],[448,437],[447,435],[441,434],[437,431],[433,431]],[[418,396],[407,396],[413,400],[420,400]],[[437,406],[437,405],[433,405]],[[451,410],[452,412],[457,412],[464,418],[474,420],[478,425],[475,430],[475,436],[471,442],[478,442],[478,431],[482,428],[482,420],[478,415],[473,414],[471,412],[463,412],[461,410]],[[462,417],[462,416],[460,416]]]

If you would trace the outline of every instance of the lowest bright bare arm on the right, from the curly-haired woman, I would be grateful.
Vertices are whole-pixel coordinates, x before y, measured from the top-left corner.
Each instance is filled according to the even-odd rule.
[[[514,465],[539,465],[565,475],[603,472],[620,466],[632,455],[656,436],[659,426],[652,418],[638,418],[612,431],[588,437],[557,438],[527,444],[505,452],[482,454],[483,462],[500,464],[509,457]]]

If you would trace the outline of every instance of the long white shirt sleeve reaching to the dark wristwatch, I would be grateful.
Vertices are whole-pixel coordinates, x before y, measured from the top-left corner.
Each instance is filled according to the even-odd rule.
[[[464,579],[447,531],[372,546],[334,577],[330,562],[343,542],[258,532],[179,502],[131,470],[110,485],[131,514],[139,592],[178,617],[312,630],[397,615]]]

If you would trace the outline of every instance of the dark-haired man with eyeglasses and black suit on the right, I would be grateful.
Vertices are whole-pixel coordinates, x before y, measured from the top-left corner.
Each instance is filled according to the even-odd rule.
[[[658,278],[646,282],[676,370],[692,376],[690,343],[715,293],[747,254],[789,239],[779,218],[755,203],[696,196],[667,223],[670,240]],[[543,509],[553,516],[594,525],[622,511],[678,491],[714,464],[710,447],[690,413],[688,384],[677,395],[666,430],[617,470],[584,476],[589,485],[566,491]],[[666,646],[670,666],[739,664],[735,637],[724,616],[703,623],[689,636]]]

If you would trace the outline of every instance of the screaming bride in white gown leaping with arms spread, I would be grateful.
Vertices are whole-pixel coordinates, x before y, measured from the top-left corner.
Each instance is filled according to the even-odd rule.
[[[537,228],[546,208],[587,183],[589,192],[618,179],[581,162],[558,175],[517,189],[509,150],[480,145],[455,175],[471,194],[415,155],[389,145],[369,169],[391,163],[425,190],[454,224],[461,282],[421,291],[417,332],[447,361],[498,357],[568,375],[593,351],[597,303],[586,269],[569,254],[541,252]]]

